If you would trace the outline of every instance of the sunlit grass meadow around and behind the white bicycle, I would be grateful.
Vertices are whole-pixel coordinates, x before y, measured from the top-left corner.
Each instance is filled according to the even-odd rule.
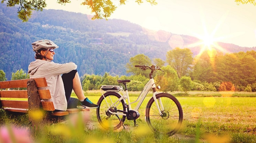
[[[131,92],[131,101],[137,99],[140,92]],[[172,93],[171,93],[172,94]],[[88,98],[97,103],[100,92],[86,92]],[[152,95],[152,94],[151,94]],[[256,142],[256,97],[253,93],[240,92],[190,92],[186,96],[177,95],[183,108],[183,124],[177,134],[167,137],[153,133],[145,121],[145,107],[150,95],[139,110],[138,127],[133,121],[126,120],[126,129],[118,131],[103,130],[100,127],[83,129],[79,121],[44,126],[32,130],[32,139],[36,142],[89,142],[89,143],[255,143]],[[221,95],[221,96],[220,96]],[[234,96],[235,95],[235,96]],[[238,96],[238,97],[237,97]],[[98,124],[96,109],[90,110],[90,120]],[[1,116],[2,117],[2,116]],[[18,117],[20,118],[20,117]],[[14,120],[14,119],[12,119]],[[1,122],[4,122],[0,119]],[[20,121],[20,123],[19,123]],[[19,126],[23,126],[22,119],[15,119]]]

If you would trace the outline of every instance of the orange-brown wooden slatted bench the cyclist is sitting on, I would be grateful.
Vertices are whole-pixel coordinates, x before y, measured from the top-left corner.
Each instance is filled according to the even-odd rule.
[[[0,108],[9,112],[28,113],[32,125],[35,125],[33,113],[42,109],[49,112],[50,116],[65,116],[78,113],[81,110],[89,111],[89,109],[72,108],[66,111],[52,112],[55,110],[53,102],[41,102],[41,99],[51,99],[50,91],[39,90],[39,87],[47,87],[45,78],[0,81]],[[10,88],[27,88],[27,90],[3,90]]]

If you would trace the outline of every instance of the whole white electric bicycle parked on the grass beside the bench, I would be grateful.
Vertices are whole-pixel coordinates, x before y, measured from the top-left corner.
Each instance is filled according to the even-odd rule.
[[[100,88],[102,96],[100,96],[97,104],[97,119],[100,125],[105,129],[118,129],[123,126],[125,119],[134,120],[136,126],[136,119],[139,118],[139,107],[144,101],[148,92],[153,90],[153,97],[149,100],[146,106],[146,121],[149,127],[155,131],[168,135],[175,134],[181,127],[183,120],[183,111],[179,101],[171,94],[158,93],[156,91],[156,84],[153,79],[153,72],[161,70],[158,66],[152,65],[135,65],[143,70],[150,69],[150,80],[141,91],[138,99],[130,102],[126,83],[130,80],[117,80],[122,86],[102,86]],[[119,92],[120,91],[120,92]],[[126,102],[127,101],[127,102]],[[138,102],[134,109],[131,104]]]

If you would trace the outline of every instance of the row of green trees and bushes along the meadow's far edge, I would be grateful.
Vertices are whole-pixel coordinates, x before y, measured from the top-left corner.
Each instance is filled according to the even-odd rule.
[[[180,53],[177,53],[177,51]],[[184,55],[184,51],[191,53],[189,49],[181,51],[178,48],[168,53],[173,52],[179,56]],[[171,58],[167,56],[168,60],[171,60]],[[182,57],[177,59],[178,61],[171,60],[172,64],[168,63],[166,66],[161,66],[165,71],[164,73],[154,75],[156,82],[161,79],[161,82],[159,82],[160,86],[162,86],[161,91],[184,91],[185,93],[191,90],[256,92],[256,67],[254,66],[256,65],[256,51],[252,50],[231,54],[209,53],[209,51],[205,51],[200,56],[193,58],[192,62],[189,60],[185,61]],[[150,71],[147,71],[147,74],[145,74],[146,71],[141,73],[140,71],[142,70],[136,70],[134,65],[141,65],[141,63],[151,65],[152,61],[143,54],[131,57],[129,61],[126,71],[131,71],[131,76],[112,76],[107,72],[104,76],[84,74],[81,77],[83,90],[98,90],[101,85],[122,86],[122,84],[118,84],[118,79],[130,79],[131,82],[127,84],[129,90],[141,91],[149,80],[147,74]],[[188,66],[184,67],[184,69],[189,70],[185,70],[184,75],[179,77],[177,74],[179,73],[178,68],[173,65],[181,61],[193,64],[183,64]],[[160,65],[159,63],[157,64]],[[24,78],[29,78],[29,76],[21,69],[16,73],[12,73],[11,79]],[[6,80],[5,72],[0,70],[0,81],[3,80]]]

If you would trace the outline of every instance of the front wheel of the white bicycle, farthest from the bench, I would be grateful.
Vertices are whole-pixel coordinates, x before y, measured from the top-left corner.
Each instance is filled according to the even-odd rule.
[[[171,94],[159,93],[156,98],[161,114],[152,97],[146,106],[146,121],[153,131],[171,136],[181,127],[183,120],[182,107],[179,101]]]

